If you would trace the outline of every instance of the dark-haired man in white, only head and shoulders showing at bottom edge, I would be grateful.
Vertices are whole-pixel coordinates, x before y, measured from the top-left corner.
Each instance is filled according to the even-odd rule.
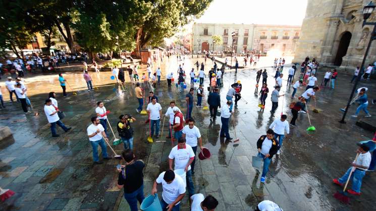
[[[214,211],[218,206],[218,200],[212,195],[204,197],[202,193],[191,196],[191,211]]]

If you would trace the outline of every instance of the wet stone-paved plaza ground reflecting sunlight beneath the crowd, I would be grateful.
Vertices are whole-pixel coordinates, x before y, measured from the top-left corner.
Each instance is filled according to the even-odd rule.
[[[203,59],[199,58],[199,61]],[[196,58],[186,58],[186,71],[194,62]],[[262,62],[261,57],[260,65]],[[266,65],[268,62],[264,63]],[[174,56],[160,64],[163,76],[170,71],[176,73],[178,64]],[[206,72],[210,65],[211,62],[207,61]],[[285,67],[285,74],[287,69]],[[271,87],[275,85],[275,71],[271,67],[267,71],[271,92]],[[113,127],[120,114],[130,113],[137,119],[133,124],[134,151],[139,159],[145,161],[144,193],[150,193],[153,180],[160,172],[168,169],[171,142],[166,140],[162,143],[147,143],[145,131],[148,131],[148,125],[144,124],[146,116],[135,112],[138,103],[132,85],[127,83],[125,92],[122,92],[121,87],[114,85],[110,74],[90,73],[94,85],[98,86],[98,90],[93,92],[86,91],[81,73],[65,75],[71,88],[77,92],[77,96],[73,96],[72,90],[67,87],[69,96],[65,98],[61,93],[57,74],[26,78],[29,88],[27,95],[33,104],[33,111],[42,110],[48,92],[57,92],[59,108],[67,114],[63,122],[73,127],[68,133],[59,128],[61,136],[58,138],[50,136],[43,112],[37,116],[25,115],[18,103],[6,102],[7,108],[0,113],[0,125],[9,126],[13,137],[0,142],[0,187],[12,189],[16,195],[0,203],[2,210],[129,210],[122,196],[123,191],[116,187],[118,174],[115,166],[119,160],[105,161],[101,165],[92,163],[92,149],[86,127],[90,124],[90,117],[95,115],[96,101],[99,100],[104,101],[104,106],[112,111],[109,120]],[[318,74],[320,82],[323,71]],[[252,156],[257,152],[256,141],[260,135],[265,134],[268,125],[279,118],[282,109],[290,120],[291,112],[287,105],[291,102],[292,87],[286,86],[286,74],[282,87],[286,97],[280,98],[280,107],[273,116],[269,112],[272,104],[270,95],[266,99],[264,110],[257,107],[258,100],[254,96],[255,75],[255,69],[241,69],[237,75],[234,70],[227,70],[220,90],[224,104],[230,84],[237,80],[241,80],[243,84],[242,97],[247,103],[239,101],[238,108],[231,117],[235,122],[236,135],[240,138],[239,145],[220,139],[220,119],[211,121],[208,110],[193,108],[192,116],[200,129],[203,145],[211,152],[210,159],[197,159],[195,192],[216,197],[220,202],[216,210],[253,210],[257,202],[264,199],[277,202],[284,210],[373,209],[376,205],[376,189],[373,188],[375,173],[366,174],[362,195],[351,197],[350,205],[341,204],[333,197],[333,193],[340,188],[333,185],[331,180],[342,176],[354,159],[355,143],[370,139],[373,135],[356,126],[356,118],[348,117],[347,124],[338,123],[342,114],[339,109],[346,104],[352,87],[348,83],[350,76],[340,74],[334,90],[327,88],[317,94],[317,108],[320,112],[310,113],[311,122],[316,127],[315,132],[306,132],[305,129],[309,126],[307,114],[299,114],[299,127],[290,128],[290,135],[284,139],[281,155],[273,158],[266,183],[260,184],[260,174],[251,165]],[[176,100],[177,106],[185,113],[185,94],[179,93],[175,86],[168,88],[165,77],[162,80],[155,93],[163,111],[166,112],[171,100]],[[128,81],[126,75],[126,82]],[[371,83],[367,81],[362,84],[370,88],[368,96],[376,97],[370,92],[375,88]],[[205,85],[207,84],[208,80],[205,79]],[[0,85],[8,100],[4,81]],[[195,88],[197,87],[196,84]],[[303,91],[298,90],[296,96]],[[205,93],[207,95],[206,88]],[[312,105],[311,103],[310,106]],[[374,106],[370,104],[368,110],[375,116],[373,109]],[[349,115],[354,112],[355,107],[351,107]],[[361,113],[359,118],[362,115]],[[371,118],[375,118],[374,116]],[[165,140],[164,136],[168,133],[167,121],[160,140]],[[230,126],[232,136],[235,136],[235,127],[233,124]],[[162,125],[160,128],[162,129]],[[113,138],[113,135],[110,137]],[[123,145],[116,146],[115,150],[120,154]],[[112,155],[109,148],[108,152]],[[162,189],[159,187],[158,190]],[[181,207],[181,210],[189,210],[187,196]]]

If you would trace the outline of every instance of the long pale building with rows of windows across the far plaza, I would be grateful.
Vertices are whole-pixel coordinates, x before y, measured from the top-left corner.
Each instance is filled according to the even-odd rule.
[[[257,24],[205,24],[194,23],[192,29],[193,50],[214,50],[247,52],[256,50],[266,53],[279,50],[285,54],[293,54],[299,39],[300,26],[257,25]],[[234,43],[231,33],[235,32]],[[222,36],[223,44],[212,42],[211,36]]]

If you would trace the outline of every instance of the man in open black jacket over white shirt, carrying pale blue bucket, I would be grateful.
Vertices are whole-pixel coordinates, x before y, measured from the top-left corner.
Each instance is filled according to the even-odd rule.
[[[265,183],[265,176],[269,171],[270,162],[278,151],[278,142],[274,138],[274,131],[272,129],[268,129],[266,135],[261,135],[258,138],[257,150],[257,157],[263,158],[264,161],[260,182]]]

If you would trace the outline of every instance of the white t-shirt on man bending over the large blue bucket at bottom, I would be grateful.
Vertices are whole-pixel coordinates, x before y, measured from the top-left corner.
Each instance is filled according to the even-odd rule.
[[[165,171],[160,173],[158,178],[156,178],[156,183],[162,183],[162,198],[163,200],[170,204],[176,200],[176,198],[180,195],[185,193],[185,183],[183,179],[178,175],[175,174],[175,179],[168,184],[163,177],[165,176]],[[185,178],[184,178],[185,179]],[[177,203],[179,204],[180,201]]]

